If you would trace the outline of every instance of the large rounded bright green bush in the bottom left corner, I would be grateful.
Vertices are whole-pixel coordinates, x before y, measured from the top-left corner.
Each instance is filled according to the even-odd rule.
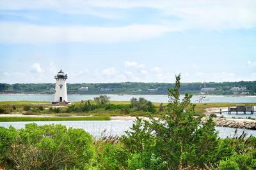
[[[87,169],[92,136],[63,125],[0,127],[0,165],[6,169]]]

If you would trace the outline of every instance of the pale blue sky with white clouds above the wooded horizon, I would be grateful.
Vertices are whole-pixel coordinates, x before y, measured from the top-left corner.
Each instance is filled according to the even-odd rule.
[[[256,80],[256,0],[0,0],[0,83]]]

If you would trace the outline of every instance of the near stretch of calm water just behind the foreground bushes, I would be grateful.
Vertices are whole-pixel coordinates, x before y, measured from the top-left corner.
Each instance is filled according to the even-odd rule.
[[[9,127],[12,125],[13,127],[20,129],[24,128],[25,124],[29,124],[33,122],[0,122],[0,126]],[[45,124],[62,124],[67,127],[80,128],[84,129],[86,132],[89,132],[96,138],[101,136],[102,132],[106,130],[104,133],[106,136],[120,136],[125,134],[125,131],[129,130],[131,127],[133,120],[109,120],[109,121],[52,121],[52,122],[35,122],[38,125]],[[216,131],[219,132],[220,138],[227,138],[227,136],[234,136],[234,128],[229,127],[216,127]],[[237,134],[241,134],[243,131],[246,132],[247,136],[251,134],[256,136],[256,131],[248,130],[248,129],[237,129]]]

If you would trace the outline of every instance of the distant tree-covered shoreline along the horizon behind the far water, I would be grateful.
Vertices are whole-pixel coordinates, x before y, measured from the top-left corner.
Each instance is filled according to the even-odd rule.
[[[205,83],[206,87],[215,88],[209,94],[228,95],[247,92],[250,95],[256,94],[256,81],[239,81]],[[182,83],[180,93],[189,92],[199,94],[203,83]],[[0,93],[40,93],[54,94],[54,83],[0,83]],[[168,88],[174,87],[174,83],[74,83],[67,84],[68,94],[166,94]],[[246,87],[246,90],[234,92],[232,87]]]

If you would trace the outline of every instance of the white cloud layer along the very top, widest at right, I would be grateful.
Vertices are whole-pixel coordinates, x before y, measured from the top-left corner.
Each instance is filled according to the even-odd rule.
[[[61,13],[85,13],[118,18],[122,9],[150,8],[161,14],[160,20],[186,29],[247,29],[256,26],[256,1],[252,0],[1,0],[1,10],[56,10]],[[157,15],[159,17],[159,15]],[[167,17],[166,17],[167,16]],[[166,18],[177,18],[175,22]]]

